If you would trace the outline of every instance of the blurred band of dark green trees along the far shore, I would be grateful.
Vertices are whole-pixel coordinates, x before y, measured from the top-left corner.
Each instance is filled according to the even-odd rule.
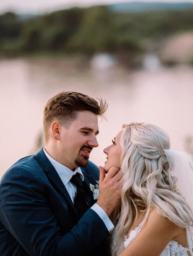
[[[59,10],[21,19],[15,13],[0,16],[0,54],[31,53],[138,54],[147,43],[193,30],[193,9],[116,13],[106,6]]]

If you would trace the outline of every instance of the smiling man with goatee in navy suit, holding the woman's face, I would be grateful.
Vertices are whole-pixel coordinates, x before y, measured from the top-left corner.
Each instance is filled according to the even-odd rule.
[[[47,102],[45,148],[16,162],[0,183],[1,256],[106,254],[122,174],[112,168],[105,176],[101,167],[95,201],[89,186],[96,185],[99,170],[88,160],[105,110],[102,100],[77,92]]]

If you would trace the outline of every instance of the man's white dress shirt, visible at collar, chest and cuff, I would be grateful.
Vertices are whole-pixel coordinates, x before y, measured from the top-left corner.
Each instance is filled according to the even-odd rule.
[[[60,176],[60,179],[62,180],[65,188],[67,189],[70,198],[72,202],[74,203],[74,198],[77,193],[77,187],[70,182],[70,179],[72,178],[73,175],[76,173],[79,173],[81,180],[84,181],[84,175],[82,174],[81,168],[78,167],[74,171],[70,170],[68,167],[60,164],[59,162],[55,161],[46,151],[45,148],[43,148],[43,151],[45,155],[47,156],[48,160],[51,162],[55,170],[57,171],[58,175]],[[110,221],[108,215],[106,212],[98,205],[98,204],[93,204],[91,209],[95,211],[99,217],[102,219],[104,222],[106,228],[111,231],[114,228],[113,223]]]

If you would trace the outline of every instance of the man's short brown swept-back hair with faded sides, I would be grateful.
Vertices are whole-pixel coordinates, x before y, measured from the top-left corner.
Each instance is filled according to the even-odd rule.
[[[78,111],[88,110],[95,115],[103,115],[107,109],[105,100],[95,99],[79,92],[59,92],[50,98],[44,107],[43,129],[45,141],[49,138],[49,128],[54,120],[68,128],[77,117]]]

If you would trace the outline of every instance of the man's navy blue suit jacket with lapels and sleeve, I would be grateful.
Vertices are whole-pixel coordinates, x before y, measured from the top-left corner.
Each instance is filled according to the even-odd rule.
[[[95,201],[89,184],[99,170],[89,162],[81,168],[87,201]],[[72,200],[43,149],[16,162],[0,183],[1,256],[105,255],[109,236],[92,209],[78,218]]]

